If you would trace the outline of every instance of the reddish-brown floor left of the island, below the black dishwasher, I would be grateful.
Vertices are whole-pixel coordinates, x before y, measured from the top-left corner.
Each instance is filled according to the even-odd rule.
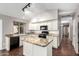
[[[0,56],[23,56],[23,48],[16,48],[11,51],[0,51]]]

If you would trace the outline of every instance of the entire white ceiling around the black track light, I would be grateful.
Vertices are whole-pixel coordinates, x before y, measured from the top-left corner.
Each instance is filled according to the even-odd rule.
[[[26,3],[0,3],[0,14],[17,17],[21,19],[33,18],[37,16],[51,16],[52,10],[59,10],[60,15],[69,15],[76,11],[78,3],[32,3],[30,8],[27,8],[26,14],[22,8]]]

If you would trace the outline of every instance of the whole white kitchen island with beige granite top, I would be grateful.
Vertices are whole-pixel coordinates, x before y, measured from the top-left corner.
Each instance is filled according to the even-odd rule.
[[[23,40],[23,55],[25,56],[52,56],[53,37],[39,38],[28,35]]]

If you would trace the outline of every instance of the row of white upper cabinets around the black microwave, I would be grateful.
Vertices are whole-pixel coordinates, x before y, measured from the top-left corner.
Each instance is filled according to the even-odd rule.
[[[47,25],[48,30],[58,30],[58,21],[50,20],[46,22],[30,23],[29,30],[40,30],[40,26]]]

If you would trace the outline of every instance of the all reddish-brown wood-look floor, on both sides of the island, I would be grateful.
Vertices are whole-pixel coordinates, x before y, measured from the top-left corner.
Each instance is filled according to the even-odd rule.
[[[71,41],[69,41],[67,38],[63,38],[60,47],[53,49],[52,53],[54,56],[76,56]],[[0,51],[0,56],[23,56],[23,48],[16,48],[9,52]]]

